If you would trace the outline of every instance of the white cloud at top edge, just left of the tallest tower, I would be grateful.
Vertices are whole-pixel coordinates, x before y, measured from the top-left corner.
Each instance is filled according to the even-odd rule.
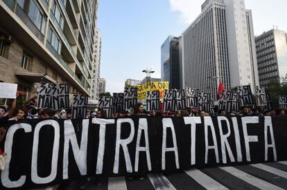
[[[180,21],[191,23],[200,15],[202,0],[168,0],[171,11],[180,12]]]

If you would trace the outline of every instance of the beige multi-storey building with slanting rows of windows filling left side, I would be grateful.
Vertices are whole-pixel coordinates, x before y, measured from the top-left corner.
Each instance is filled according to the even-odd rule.
[[[97,0],[1,0],[0,81],[17,83],[26,98],[40,82],[89,95],[97,10]]]

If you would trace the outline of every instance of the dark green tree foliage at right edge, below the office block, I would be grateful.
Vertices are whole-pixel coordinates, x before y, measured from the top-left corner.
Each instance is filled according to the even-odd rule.
[[[287,75],[281,79],[271,79],[266,93],[270,93],[273,109],[279,108],[279,96],[287,95]]]

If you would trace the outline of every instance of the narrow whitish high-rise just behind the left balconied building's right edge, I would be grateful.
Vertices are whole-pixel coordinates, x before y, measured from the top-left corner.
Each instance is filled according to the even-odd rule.
[[[94,60],[93,60],[93,73],[92,73],[92,99],[98,99],[99,83],[100,83],[100,68],[101,68],[101,47],[102,39],[100,30],[96,29],[94,40]]]

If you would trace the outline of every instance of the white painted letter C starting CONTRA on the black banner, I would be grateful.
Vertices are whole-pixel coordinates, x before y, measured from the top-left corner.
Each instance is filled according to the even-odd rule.
[[[5,152],[7,153],[6,164],[4,171],[1,171],[1,182],[3,186],[7,188],[21,187],[26,181],[26,175],[21,175],[21,177],[17,181],[11,181],[9,179],[9,167],[12,155],[13,136],[18,129],[24,129],[25,133],[29,133],[32,131],[32,127],[30,124],[14,124],[10,126],[8,130],[5,142]]]

